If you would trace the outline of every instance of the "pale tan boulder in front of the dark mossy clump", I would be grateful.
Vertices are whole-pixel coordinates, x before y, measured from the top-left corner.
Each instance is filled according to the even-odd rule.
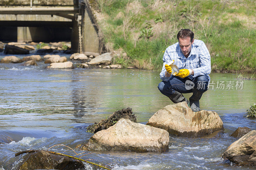
[[[164,129],[120,119],[108,129],[95,133],[78,150],[134,152],[165,152],[169,147],[169,133]]]

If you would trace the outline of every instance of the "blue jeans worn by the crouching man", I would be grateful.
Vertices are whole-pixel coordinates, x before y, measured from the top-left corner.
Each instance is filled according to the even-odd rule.
[[[192,93],[192,87],[188,86],[189,81],[194,83],[194,87],[199,92],[206,92],[208,90],[207,86],[209,84],[209,78],[206,75],[201,75],[193,78],[180,78],[178,76],[172,76],[169,81],[162,81],[158,85],[158,89],[162,94],[169,97],[174,94],[175,91],[180,93]],[[187,82],[186,82],[187,81]],[[185,85],[185,83],[187,83]],[[193,84],[192,83],[192,84]],[[190,88],[189,88],[190,87]]]

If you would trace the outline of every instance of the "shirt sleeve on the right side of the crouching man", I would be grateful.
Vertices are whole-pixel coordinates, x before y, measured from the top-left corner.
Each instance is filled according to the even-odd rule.
[[[206,45],[204,44],[204,42],[201,45],[198,57],[199,57],[199,67],[193,69],[194,77],[210,74],[211,73],[211,55]]]

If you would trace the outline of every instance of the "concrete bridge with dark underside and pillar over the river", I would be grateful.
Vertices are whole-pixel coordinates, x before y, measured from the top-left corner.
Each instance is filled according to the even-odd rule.
[[[71,41],[80,53],[100,53],[88,0],[1,0],[0,41]]]

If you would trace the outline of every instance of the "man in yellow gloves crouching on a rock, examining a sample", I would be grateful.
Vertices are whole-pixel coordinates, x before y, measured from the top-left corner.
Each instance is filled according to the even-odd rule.
[[[194,33],[189,29],[181,29],[177,34],[178,42],[166,48],[164,66],[160,73],[163,80],[158,89],[173,103],[186,101],[194,112],[200,111],[199,100],[208,90],[211,73],[211,56],[201,40],[194,40]],[[180,73],[172,75],[172,68],[167,65],[170,61],[180,69]],[[190,85],[190,86],[188,86]],[[194,85],[194,87],[193,87]],[[181,93],[193,95],[188,100]]]

